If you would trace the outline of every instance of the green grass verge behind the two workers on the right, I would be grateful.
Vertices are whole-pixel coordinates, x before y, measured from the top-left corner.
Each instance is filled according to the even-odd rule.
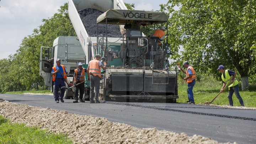
[[[204,103],[206,101],[212,101],[215,96],[218,95],[222,87],[220,81],[207,81],[207,82],[196,82],[193,87],[195,103]],[[250,90],[242,91],[239,86],[239,93],[244,101],[246,107],[256,107],[256,85],[250,86]],[[178,80],[178,96],[177,102],[186,103],[187,97],[187,83],[182,80]],[[238,98],[235,93],[232,96],[234,106],[240,106]],[[217,105],[229,105],[228,101],[228,88],[226,88],[213,102],[212,104]]]

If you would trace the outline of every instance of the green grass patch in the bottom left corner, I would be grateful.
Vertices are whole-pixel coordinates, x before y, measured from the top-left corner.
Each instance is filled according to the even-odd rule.
[[[27,127],[25,124],[10,123],[0,115],[1,144],[72,144],[64,134],[47,133],[38,127]]]

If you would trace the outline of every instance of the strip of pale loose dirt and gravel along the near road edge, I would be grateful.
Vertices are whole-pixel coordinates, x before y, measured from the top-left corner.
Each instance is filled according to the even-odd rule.
[[[39,126],[50,132],[63,132],[74,143],[99,144],[217,144],[201,135],[188,136],[155,128],[137,128],[105,118],[84,116],[66,111],[0,101],[0,114],[16,123]]]

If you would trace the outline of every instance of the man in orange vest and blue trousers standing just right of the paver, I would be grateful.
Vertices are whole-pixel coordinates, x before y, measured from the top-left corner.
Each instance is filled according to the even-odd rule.
[[[178,64],[178,67],[181,69],[181,71],[186,74],[186,78],[184,78],[183,80],[186,80],[187,82],[187,103],[194,104],[193,87],[196,84],[196,73],[194,71],[194,68],[190,66],[187,61],[183,62],[183,66],[187,68],[186,71],[181,68],[180,64]]]

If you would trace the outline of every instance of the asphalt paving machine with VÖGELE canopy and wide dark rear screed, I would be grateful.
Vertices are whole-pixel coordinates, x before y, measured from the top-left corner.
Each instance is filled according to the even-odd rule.
[[[100,97],[107,101],[176,102],[177,73],[169,70],[167,43],[158,37],[145,37],[140,30],[141,25],[167,25],[167,15],[110,9],[97,18],[100,23],[106,25],[106,33],[97,33],[95,54],[100,54],[108,67],[101,80]],[[124,25],[121,44],[108,41],[109,25]]]

